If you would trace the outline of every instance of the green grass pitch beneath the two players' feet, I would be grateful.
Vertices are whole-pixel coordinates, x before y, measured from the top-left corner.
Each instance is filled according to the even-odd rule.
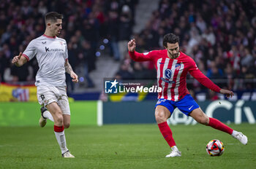
[[[170,148],[154,125],[71,126],[65,130],[75,159],[61,157],[53,126],[0,127],[0,168],[255,168],[256,125],[230,125],[249,138],[242,145],[226,133],[203,125],[171,126],[182,157],[165,158]],[[221,157],[206,144],[219,139]]]

